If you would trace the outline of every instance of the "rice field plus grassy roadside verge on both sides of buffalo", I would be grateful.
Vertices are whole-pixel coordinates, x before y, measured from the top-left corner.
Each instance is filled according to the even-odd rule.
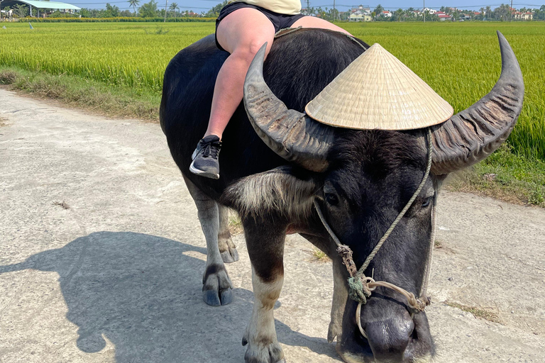
[[[461,111],[500,76],[495,30],[522,68],[524,107],[508,144],[450,188],[545,206],[545,23],[338,23],[380,43]],[[156,121],[165,67],[214,23],[6,23],[0,83],[112,116]],[[62,39],[62,42],[58,41]]]

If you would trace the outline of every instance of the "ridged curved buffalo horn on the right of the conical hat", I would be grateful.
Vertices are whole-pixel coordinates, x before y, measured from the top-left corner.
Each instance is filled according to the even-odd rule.
[[[524,82],[517,57],[505,37],[497,32],[502,53],[502,74],[480,101],[436,125],[431,173],[456,172],[488,157],[517,123],[524,98]]]

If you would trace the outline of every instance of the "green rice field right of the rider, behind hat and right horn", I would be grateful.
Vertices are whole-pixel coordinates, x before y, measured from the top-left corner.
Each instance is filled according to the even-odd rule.
[[[517,55],[524,106],[508,139],[518,155],[545,161],[545,23],[343,23],[369,44],[380,43],[461,111],[487,94],[500,77],[495,30]]]

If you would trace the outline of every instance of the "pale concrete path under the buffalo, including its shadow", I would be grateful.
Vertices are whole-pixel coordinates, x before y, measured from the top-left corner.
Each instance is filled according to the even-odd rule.
[[[0,362],[242,361],[243,237],[227,267],[235,300],[206,306],[204,238],[158,125],[0,90],[0,175]],[[444,193],[438,233],[436,362],[545,362],[545,210]],[[287,240],[278,337],[288,362],[338,362],[331,265],[310,250]]]

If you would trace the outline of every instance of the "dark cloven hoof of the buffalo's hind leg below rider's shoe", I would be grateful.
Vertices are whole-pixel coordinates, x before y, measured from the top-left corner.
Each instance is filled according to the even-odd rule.
[[[221,306],[233,301],[233,286],[223,264],[207,266],[202,284],[202,299],[208,305]]]

